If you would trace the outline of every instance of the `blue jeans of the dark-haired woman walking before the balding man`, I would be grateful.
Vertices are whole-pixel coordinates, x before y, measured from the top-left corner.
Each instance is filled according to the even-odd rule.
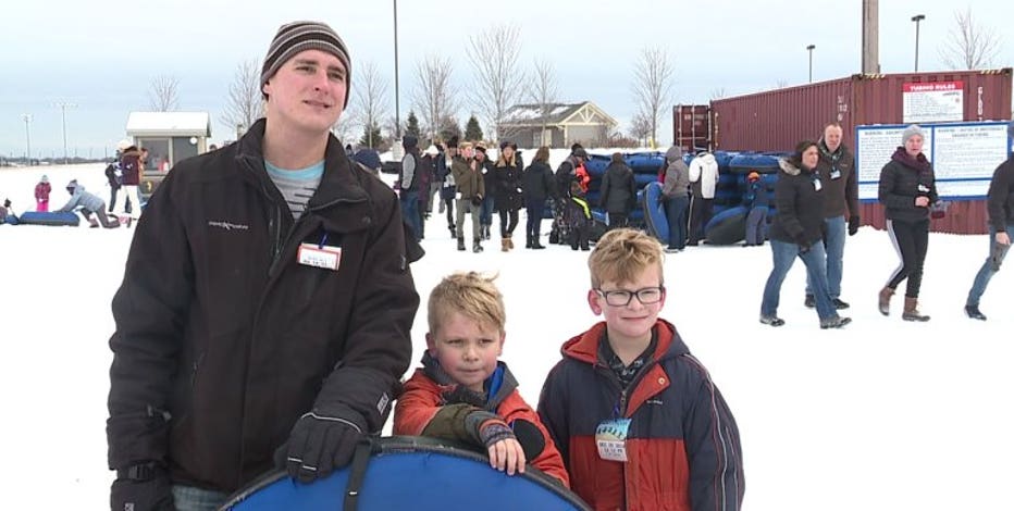
[[[825,273],[825,254],[824,244],[819,240],[809,247],[806,253],[800,253],[800,246],[786,241],[771,240],[771,254],[775,259],[775,267],[767,277],[767,284],[764,286],[764,300],[760,302],[760,314],[774,316],[778,313],[778,300],[781,295],[781,283],[784,282],[786,275],[799,257],[806,265],[806,275],[815,284],[814,298],[817,301],[817,315],[820,320],[827,320],[838,315],[834,306],[831,304],[831,297],[827,291],[827,274]]]

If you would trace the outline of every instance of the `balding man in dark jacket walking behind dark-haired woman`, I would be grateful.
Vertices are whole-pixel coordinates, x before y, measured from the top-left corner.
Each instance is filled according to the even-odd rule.
[[[860,230],[860,185],[855,174],[855,158],[841,142],[841,125],[831,123],[824,127],[824,136],[817,142],[820,160],[817,175],[824,184],[824,245],[827,248],[827,285],[831,301],[838,310],[848,309],[841,300],[841,275],[844,265],[845,232],[855,236]],[[845,219],[849,220],[848,226]],[[803,304],[815,304],[813,286],[807,278],[806,297]]]

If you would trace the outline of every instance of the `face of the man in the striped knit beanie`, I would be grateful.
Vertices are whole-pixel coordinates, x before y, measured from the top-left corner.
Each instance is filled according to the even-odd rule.
[[[282,64],[263,87],[268,122],[308,133],[331,129],[345,110],[345,64],[320,50],[306,50]]]

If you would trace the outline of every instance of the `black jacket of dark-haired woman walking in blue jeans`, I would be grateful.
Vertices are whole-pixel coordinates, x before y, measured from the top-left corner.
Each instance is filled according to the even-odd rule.
[[[824,236],[824,184],[813,170],[797,169],[787,160],[775,184],[775,207],[769,237],[790,244],[814,244]]]

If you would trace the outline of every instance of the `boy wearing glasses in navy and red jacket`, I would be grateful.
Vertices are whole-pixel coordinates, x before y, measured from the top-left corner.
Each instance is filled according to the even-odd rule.
[[[729,407],[671,323],[661,246],[606,233],[588,302],[605,321],[564,344],[539,414],[593,509],[739,510],[743,463]]]

